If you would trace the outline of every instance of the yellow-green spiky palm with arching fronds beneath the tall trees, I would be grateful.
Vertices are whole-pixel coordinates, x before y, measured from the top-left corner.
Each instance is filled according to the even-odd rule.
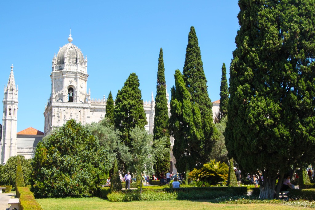
[[[194,168],[188,175],[197,181],[199,186],[205,184],[206,186],[215,185],[220,181],[226,181],[228,176],[229,167],[223,162],[215,162],[211,160],[209,163],[203,164],[200,169]]]

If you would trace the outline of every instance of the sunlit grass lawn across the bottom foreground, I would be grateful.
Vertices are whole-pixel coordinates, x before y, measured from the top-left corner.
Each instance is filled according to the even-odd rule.
[[[219,204],[208,200],[200,201],[132,201],[110,202],[100,198],[45,198],[36,199],[44,210],[86,210],[86,209],[302,209],[303,207],[281,204]],[[303,208],[305,209],[305,208]]]

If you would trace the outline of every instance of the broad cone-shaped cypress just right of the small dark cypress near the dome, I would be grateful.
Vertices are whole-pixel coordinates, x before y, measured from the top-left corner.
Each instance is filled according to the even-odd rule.
[[[122,133],[121,139],[129,148],[132,148],[129,138],[130,128],[144,128],[148,123],[139,86],[138,76],[131,73],[123,88],[118,90],[115,100],[114,126]]]

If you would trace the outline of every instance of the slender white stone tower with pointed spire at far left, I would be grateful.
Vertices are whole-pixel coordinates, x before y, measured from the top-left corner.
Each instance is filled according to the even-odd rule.
[[[15,88],[13,64],[7,87],[4,86],[3,117],[2,117],[2,142],[0,142],[1,164],[7,162],[9,157],[16,156],[17,142],[17,111],[18,87]]]

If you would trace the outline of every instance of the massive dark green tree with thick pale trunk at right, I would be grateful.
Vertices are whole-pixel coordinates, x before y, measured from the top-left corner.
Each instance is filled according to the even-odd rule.
[[[244,171],[262,171],[260,198],[273,198],[290,166],[314,161],[315,1],[238,5],[226,148]]]

